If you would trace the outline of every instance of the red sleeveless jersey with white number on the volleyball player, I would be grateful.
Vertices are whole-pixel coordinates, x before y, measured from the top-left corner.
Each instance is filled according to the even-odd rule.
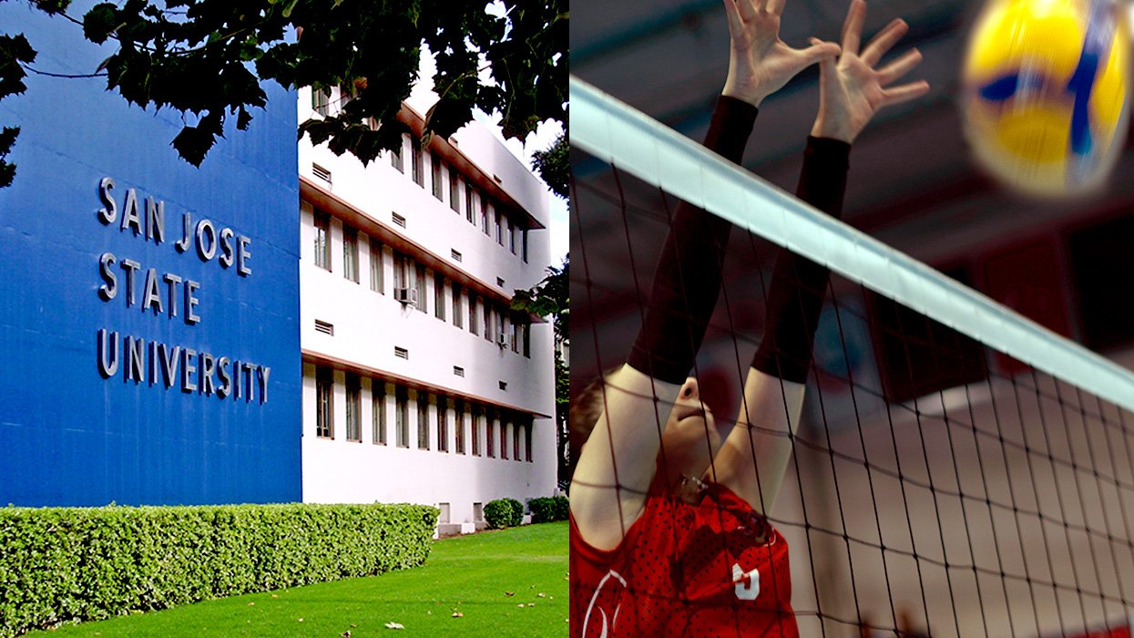
[[[570,523],[570,630],[582,638],[787,636],[787,542],[728,488],[699,505],[652,494],[611,551]]]

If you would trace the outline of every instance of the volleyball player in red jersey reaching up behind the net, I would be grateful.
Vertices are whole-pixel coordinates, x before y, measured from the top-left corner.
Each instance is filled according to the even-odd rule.
[[[820,106],[797,196],[838,217],[850,143],[878,109],[923,94],[888,87],[916,50],[875,68],[906,31],[886,26],[865,47],[853,0],[841,47],[779,39],[786,0],[725,0],[728,78],[705,145],[739,162],[770,93],[820,65]],[[730,225],[680,204],[653,279],[649,311],[625,366],[572,408],[586,438],[570,493],[575,636],[797,636],[787,544],[764,517],[779,492],[798,423],[828,272],[781,252],[768,288],[764,336],[723,438],[686,378],[721,283]],[[590,430],[590,431],[586,431]]]

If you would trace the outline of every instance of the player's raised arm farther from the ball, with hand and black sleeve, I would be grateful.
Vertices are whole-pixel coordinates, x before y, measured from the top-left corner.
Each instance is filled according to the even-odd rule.
[[[779,39],[784,0],[725,0],[725,6],[729,75],[705,145],[739,162],[760,101],[803,68],[832,58],[838,47],[785,44]],[[572,517],[596,548],[617,546],[642,513],[665,423],[717,303],[730,228],[684,203],[674,216],[645,321],[627,364],[606,384],[602,415],[572,481]]]

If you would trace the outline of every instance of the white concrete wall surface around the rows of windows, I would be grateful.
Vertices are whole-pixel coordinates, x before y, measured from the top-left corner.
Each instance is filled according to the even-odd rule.
[[[332,95],[332,104],[337,95]],[[299,118],[311,115],[310,92],[301,91]],[[333,106],[332,106],[333,108]],[[458,135],[462,135],[458,133]],[[517,201],[532,201],[536,218],[547,220],[547,193],[542,199],[525,194],[527,182],[534,181],[513,175],[517,166],[523,166],[496,142],[491,135],[458,137],[459,149],[469,158],[499,157],[494,168],[483,167],[486,173],[501,177],[502,186],[517,184],[519,193],[510,194]],[[431,190],[431,158],[425,153],[424,187],[412,179],[412,154],[408,138],[404,141],[403,161],[405,173],[395,169],[388,154],[369,167],[353,157],[335,157],[325,148],[312,148],[310,141],[299,144],[301,175],[311,178],[319,186],[337,198],[347,201],[363,215],[401,234],[429,252],[447,260],[452,267],[496,286],[497,277],[505,285],[496,286],[507,296],[515,288],[527,288],[545,276],[549,265],[549,238],[547,230],[528,233],[528,259],[525,263],[517,253],[509,250],[507,237],[499,245],[494,236],[481,232],[480,200],[474,198],[474,223],[465,215],[465,181],[460,183],[459,208],[456,213],[449,207],[449,176],[442,170],[442,200],[433,196]],[[516,166],[509,167],[508,160]],[[331,184],[314,177],[312,165],[318,163],[331,171]],[[511,173],[510,173],[511,171]],[[525,171],[526,173],[526,171]],[[538,184],[538,183],[536,183]],[[542,203],[541,203],[542,202]],[[406,227],[391,223],[391,213],[405,217]],[[491,220],[491,217],[490,217]],[[445,282],[445,320],[434,312],[434,272],[426,269],[425,302],[428,312],[398,303],[393,299],[393,255],[384,246],[382,259],[384,294],[371,289],[370,238],[358,234],[358,282],[344,277],[342,221],[331,218],[330,245],[331,269],[314,265],[313,210],[306,202],[301,215],[301,342],[305,351],[328,358],[347,361],[367,369],[392,376],[439,386],[455,393],[473,395],[485,402],[513,405],[522,410],[553,414],[553,351],[550,324],[532,326],[531,356],[501,349],[483,336],[479,319],[477,333],[468,330],[467,291],[462,295],[462,327],[454,325],[451,282]],[[490,224],[490,230],[494,230]],[[462,253],[460,262],[451,259],[451,250]],[[413,257],[409,254],[408,257]],[[325,335],[315,330],[315,320],[333,325],[335,334]],[[510,334],[510,331],[509,331]],[[395,347],[408,351],[408,359],[395,355]],[[464,368],[464,377],[454,373],[454,367]],[[335,371],[335,436],[321,438],[315,430],[315,366],[304,364],[304,414],[303,414],[303,492],[307,502],[369,503],[413,502],[450,505],[450,522],[474,522],[473,504],[488,503],[493,498],[510,496],[525,500],[548,496],[556,488],[556,440],[552,419],[535,419],[533,423],[533,461],[513,460],[513,438],[508,437],[508,459],[500,459],[499,429],[494,442],[496,457],[484,455],[484,425],[481,429],[481,456],[472,454],[472,433],[466,433],[464,454],[456,450],[456,421],[449,412],[448,452],[439,451],[435,422],[437,405],[430,406],[430,450],[417,448],[416,392],[409,391],[409,437],[408,447],[396,445],[393,386],[388,386],[387,428],[388,444],[374,443],[372,433],[372,384],[362,380],[362,442],[346,440],[346,386],[345,373]],[[500,381],[507,389],[500,389]],[[467,429],[471,425],[464,423]],[[499,428],[499,426],[498,426]],[[523,459],[524,439],[521,437]]]

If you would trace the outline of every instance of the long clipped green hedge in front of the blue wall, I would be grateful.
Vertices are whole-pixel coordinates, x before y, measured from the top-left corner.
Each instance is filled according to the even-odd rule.
[[[0,507],[0,636],[425,562],[423,505]]]

